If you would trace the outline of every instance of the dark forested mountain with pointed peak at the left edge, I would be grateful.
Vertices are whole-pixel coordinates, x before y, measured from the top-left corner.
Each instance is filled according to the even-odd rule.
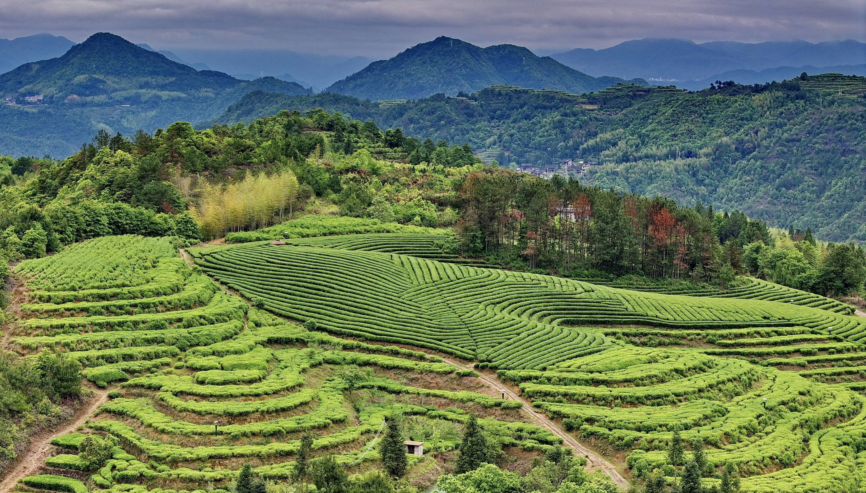
[[[0,93],[16,103],[0,106],[0,149],[66,156],[100,128],[133,133],[176,120],[214,118],[256,89],[310,92],[273,77],[241,81],[197,71],[120,36],[97,33],[58,58],[0,75]]]

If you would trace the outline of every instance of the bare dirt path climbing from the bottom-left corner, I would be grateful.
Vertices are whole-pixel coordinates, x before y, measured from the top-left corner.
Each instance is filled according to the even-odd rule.
[[[19,479],[30,476],[39,470],[39,467],[45,464],[45,459],[51,451],[51,438],[65,435],[72,431],[78,425],[84,424],[88,418],[93,416],[96,409],[108,399],[108,392],[105,390],[94,390],[96,395],[90,399],[85,405],[81,406],[78,412],[75,412],[72,418],[69,418],[65,423],[61,423],[58,428],[49,428],[42,431],[35,437],[31,438],[30,446],[18,454],[16,463],[12,465],[10,470],[0,481],[0,493],[9,493],[15,488]]]

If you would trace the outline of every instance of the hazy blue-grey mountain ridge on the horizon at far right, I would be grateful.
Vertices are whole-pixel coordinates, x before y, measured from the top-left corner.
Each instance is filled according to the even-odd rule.
[[[702,80],[740,69],[858,65],[866,63],[866,43],[854,40],[696,43],[646,38],[606,49],[578,48],[551,56],[589,75],[644,77],[664,83]]]

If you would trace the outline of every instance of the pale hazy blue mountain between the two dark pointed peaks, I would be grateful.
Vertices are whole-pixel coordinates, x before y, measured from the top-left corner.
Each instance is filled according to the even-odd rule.
[[[305,85],[325,88],[334,81],[365,68],[370,59],[365,56],[312,55],[288,49],[171,49],[190,62],[206,63],[208,67],[227,74],[273,75],[280,78],[291,74]]]

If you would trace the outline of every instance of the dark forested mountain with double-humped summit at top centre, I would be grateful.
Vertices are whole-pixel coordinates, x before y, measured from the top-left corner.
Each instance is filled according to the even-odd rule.
[[[592,77],[526,48],[500,44],[480,48],[445,36],[423,42],[334,82],[326,92],[370,100],[418,99],[430,94],[475,92],[493,84],[585,93],[623,82]],[[649,85],[643,79],[632,81]]]

